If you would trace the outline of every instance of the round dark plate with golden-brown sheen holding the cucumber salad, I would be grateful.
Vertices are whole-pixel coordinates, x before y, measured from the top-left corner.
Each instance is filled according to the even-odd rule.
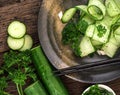
[[[69,46],[62,45],[61,31],[64,24],[58,14],[72,6],[86,3],[87,0],[43,0],[38,17],[39,40],[46,56],[57,69],[109,59],[98,55],[92,58],[76,57]],[[86,83],[108,82],[120,76],[120,65],[89,69],[67,76]]]

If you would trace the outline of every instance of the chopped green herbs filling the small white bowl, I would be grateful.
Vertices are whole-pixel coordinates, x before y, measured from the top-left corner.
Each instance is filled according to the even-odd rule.
[[[88,91],[83,95],[113,95],[112,92],[108,92],[106,89],[100,88],[97,84],[90,87]]]

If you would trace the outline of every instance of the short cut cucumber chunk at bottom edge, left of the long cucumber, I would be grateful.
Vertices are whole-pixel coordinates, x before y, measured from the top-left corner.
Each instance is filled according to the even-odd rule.
[[[40,81],[36,81],[24,90],[26,95],[48,95]]]

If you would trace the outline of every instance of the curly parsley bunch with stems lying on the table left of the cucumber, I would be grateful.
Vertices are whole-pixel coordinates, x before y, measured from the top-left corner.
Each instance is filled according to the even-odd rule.
[[[5,80],[4,77],[2,77],[0,80],[0,83],[4,81],[2,82],[3,84],[0,85],[0,88],[3,87],[3,89],[0,89],[1,91],[3,91],[4,88],[7,87],[7,80],[11,80],[16,84],[19,95],[24,95],[22,86],[25,85],[28,77],[32,78],[33,81],[37,80],[37,76],[34,73],[35,70],[30,64],[32,62],[30,56],[30,50],[21,52],[10,50],[9,52],[6,52],[4,54],[4,64],[1,69],[1,74],[3,74],[3,72],[6,72],[7,75],[5,77]]]

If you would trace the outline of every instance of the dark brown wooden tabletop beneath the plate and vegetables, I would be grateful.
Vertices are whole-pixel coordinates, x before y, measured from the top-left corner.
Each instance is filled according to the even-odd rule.
[[[6,43],[7,26],[12,20],[20,20],[27,25],[27,33],[34,40],[34,46],[39,44],[37,35],[37,17],[42,0],[0,0],[0,65],[3,64],[3,53],[9,48]],[[81,83],[69,79],[65,76],[61,77],[70,95],[81,95],[82,91],[91,84]],[[120,95],[120,79],[104,83],[110,86],[117,95]],[[9,84],[12,85],[12,84]],[[14,86],[9,87],[13,95],[15,93]]]

